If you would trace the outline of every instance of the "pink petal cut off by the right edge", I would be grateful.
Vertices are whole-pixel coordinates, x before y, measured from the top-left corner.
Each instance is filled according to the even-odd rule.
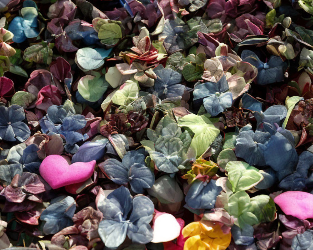
[[[313,218],[313,194],[287,191],[274,198],[274,202],[287,214],[300,220]]]

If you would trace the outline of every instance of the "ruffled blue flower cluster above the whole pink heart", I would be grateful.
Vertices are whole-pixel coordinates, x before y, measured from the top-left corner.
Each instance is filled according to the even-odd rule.
[[[43,133],[60,134],[64,136],[66,144],[65,150],[69,153],[76,153],[79,146],[75,143],[81,142],[85,137],[78,132],[87,124],[85,116],[76,115],[74,109],[65,105],[53,105],[48,108],[47,114],[39,120]]]

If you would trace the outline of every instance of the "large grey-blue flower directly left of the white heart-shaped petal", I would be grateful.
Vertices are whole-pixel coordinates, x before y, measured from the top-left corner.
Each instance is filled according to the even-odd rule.
[[[129,190],[121,186],[106,198],[101,196],[97,207],[103,213],[98,233],[106,247],[119,247],[126,236],[137,244],[152,240],[153,230],[149,223],[154,205],[148,197],[131,197]]]

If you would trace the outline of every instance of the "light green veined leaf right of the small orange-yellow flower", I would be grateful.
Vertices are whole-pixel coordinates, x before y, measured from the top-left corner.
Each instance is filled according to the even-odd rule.
[[[228,162],[225,170],[228,172],[228,181],[232,184],[233,192],[248,190],[263,180],[259,170],[245,162]]]

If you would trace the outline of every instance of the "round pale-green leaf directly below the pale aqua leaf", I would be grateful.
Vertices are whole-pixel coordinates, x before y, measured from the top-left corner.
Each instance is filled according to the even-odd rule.
[[[91,75],[83,76],[77,85],[78,92],[81,96],[90,102],[98,101],[108,87],[109,83],[105,80],[104,76],[100,77],[100,75],[98,77]]]

